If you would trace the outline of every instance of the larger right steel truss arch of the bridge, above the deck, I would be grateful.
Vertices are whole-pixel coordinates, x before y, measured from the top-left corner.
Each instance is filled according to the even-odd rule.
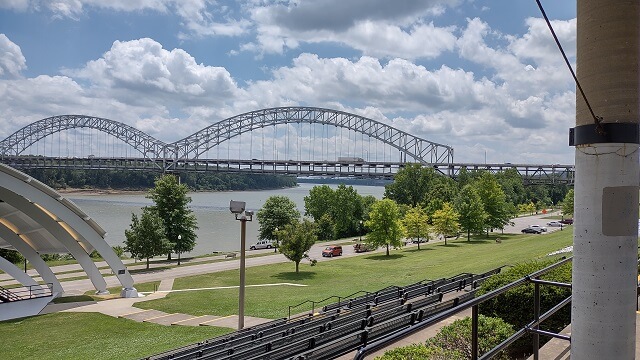
[[[207,150],[245,132],[270,125],[309,123],[334,125],[380,140],[423,164],[453,162],[453,148],[434,143],[379,121],[344,111],[318,107],[277,107],[255,110],[212,124],[169,147],[177,158],[198,158]]]

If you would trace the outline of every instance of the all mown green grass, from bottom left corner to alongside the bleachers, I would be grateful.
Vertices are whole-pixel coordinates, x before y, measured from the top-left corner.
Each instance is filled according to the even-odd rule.
[[[311,267],[293,263],[247,268],[247,285],[296,283],[306,287],[273,286],[246,289],[248,316],[280,318],[288,307],[306,300],[376,291],[391,285],[407,285],[424,279],[449,277],[463,272],[483,272],[546,256],[571,245],[572,227],[545,235],[495,235],[467,242],[460,238],[444,243],[384,253],[337,258]],[[238,285],[239,273],[225,271],[175,280],[174,289]],[[148,286],[151,285],[151,286]],[[136,284],[147,289],[152,284]],[[192,315],[237,313],[238,290],[200,290],[171,293],[164,299],[141,302],[139,308]],[[336,301],[333,299],[332,301]],[[108,300],[107,300],[108,301]],[[310,311],[305,304],[292,314]],[[115,319],[102,314],[56,313],[0,322],[0,359],[135,359],[222,335],[231,329],[162,326]]]

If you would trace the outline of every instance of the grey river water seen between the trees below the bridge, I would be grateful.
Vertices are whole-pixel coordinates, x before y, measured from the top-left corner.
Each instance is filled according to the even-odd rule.
[[[205,255],[213,251],[237,251],[240,249],[240,222],[229,212],[229,201],[238,200],[247,203],[247,210],[258,211],[269,196],[284,195],[289,197],[304,214],[304,197],[315,184],[301,183],[290,189],[265,191],[229,191],[229,192],[197,192],[190,193],[191,209],[198,220],[197,243],[190,255]],[[336,188],[337,185],[329,185]],[[358,194],[373,195],[381,199],[383,186],[353,185]],[[131,224],[131,214],[140,215],[143,206],[151,205],[144,194],[118,195],[76,195],[65,197],[76,203],[86,214],[91,216],[105,231],[105,240],[111,246],[123,245],[125,229]],[[247,222],[247,244],[253,244],[258,238],[258,221],[254,216]],[[247,246],[248,248],[248,246]]]

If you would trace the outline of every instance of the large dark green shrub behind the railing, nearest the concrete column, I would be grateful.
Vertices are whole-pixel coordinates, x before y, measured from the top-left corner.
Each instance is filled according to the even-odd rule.
[[[531,261],[515,265],[507,271],[492,276],[478,289],[477,296],[498,289],[511,282],[519,280],[537,270],[545,268],[557,259],[545,261]],[[566,263],[541,278],[550,281],[571,283],[571,263]],[[533,321],[534,284],[527,283],[506,293],[480,304],[480,313],[485,316],[499,317],[513,325],[514,329],[520,329]],[[571,289],[542,285],[540,286],[540,313],[543,314],[560,301],[571,295]],[[560,332],[571,322],[571,306],[567,305],[545,320],[540,328],[551,332]],[[541,337],[541,345],[548,338]],[[530,353],[532,348],[531,336],[524,336],[514,345],[518,351]],[[513,354],[516,355],[516,354]]]

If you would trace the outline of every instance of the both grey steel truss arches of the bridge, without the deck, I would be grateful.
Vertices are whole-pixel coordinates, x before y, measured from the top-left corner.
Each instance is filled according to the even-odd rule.
[[[18,156],[37,141],[57,132],[92,128],[112,135],[143,157],[166,160],[199,159],[207,150],[243,133],[267,126],[307,123],[353,130],[390,145],[422,164],[451,163],[453,148],[431,142],[363,116],[315,107],[279,107],[256,110],[212,124],[174,143],[164,143],[129,125],[85,115],[60,115],[36,121],[0,142],[3,155]]]

